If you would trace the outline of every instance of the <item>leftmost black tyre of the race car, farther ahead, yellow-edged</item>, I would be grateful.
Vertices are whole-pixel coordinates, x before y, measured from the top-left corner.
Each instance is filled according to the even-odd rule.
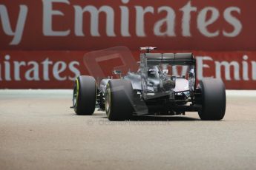
[[[76,115],[93,115],[96,106],[96,81],[93,77],[80,75],[73,87],[73,109]]]

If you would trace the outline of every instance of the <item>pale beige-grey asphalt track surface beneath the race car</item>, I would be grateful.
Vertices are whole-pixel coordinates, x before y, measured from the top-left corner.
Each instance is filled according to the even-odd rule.
[[[227,92],[226,117],[110,122],[77,116],[71,90],[0,90],[0,169],[256,169],[256,92]]]

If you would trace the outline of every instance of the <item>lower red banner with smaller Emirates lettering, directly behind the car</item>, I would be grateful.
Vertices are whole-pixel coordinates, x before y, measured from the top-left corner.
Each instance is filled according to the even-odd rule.
[[[161,51],[162,52],[162,51]],[[170,52],[170,51],[164,51]],[[78,75],[112,76],[113,69],[136,71],[140,52],[126,47],[88,51],[1,51],[1,89],[70,89]],[[200,52],[197,82],[222,78],[226,89],[256,89],[256,52]],[[177,73],[182,72],[177,69]]]

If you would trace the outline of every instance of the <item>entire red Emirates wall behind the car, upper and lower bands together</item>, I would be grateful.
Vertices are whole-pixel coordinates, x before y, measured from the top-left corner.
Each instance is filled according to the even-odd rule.
[[[135,69],[139,47],[154,46],[194,52],[199,79],[256,89],[255,7],[255,0],[1,0],[0,88],[71,88],[79,74]],[[131,52],[106,55],[119,46]]]

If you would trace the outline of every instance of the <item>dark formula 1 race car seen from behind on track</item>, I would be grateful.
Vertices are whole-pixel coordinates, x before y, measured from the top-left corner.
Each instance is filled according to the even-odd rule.
[[[88,75],[76,78],[73,109],[77,115],[92,115],[95,108],[109,120],[128,120],[132,115],[185,115],[198,112],[201,120],[221,120],[226,111],[223,81],[206,78],[196,86],[196,60],[192,53],[151,53],[140,48],[137,72],[114,70],[119,79]],[[177,75],[177,68],[185,68]],[[98,84],[98,86],[97,86]]]

